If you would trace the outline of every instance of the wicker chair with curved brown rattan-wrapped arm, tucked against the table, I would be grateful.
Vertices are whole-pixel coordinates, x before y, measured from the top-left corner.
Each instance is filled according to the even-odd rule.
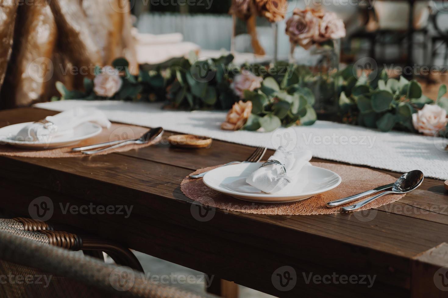
[[[64,228],[65,226],[55,226],[47,222],[40,222],[31,218],[12,218],[4,219],[0,218],[0,230],[2,226],[12,227],[21,231],[34,232],[30,235],[30,239],[33,237],[46,237],[49,245],[58,246],[60,248],[66,248],[72,251],[82,251],[85,255],[93,256],[99,259],[103,259],[103,253],[107,253],[116,264],[128,266],[132,269],[143,271],[142,265],[134,254],[121,245],[113,243],[108,240],[99,239],[90,235],[81,235],[74,233],[67,233],[64,231],[54,231],[56,229]],[[70,228],[70,230],[72,230]],[[8,231],[9,232],[9,231]],[[37,234],[36,234],[37,233]]]

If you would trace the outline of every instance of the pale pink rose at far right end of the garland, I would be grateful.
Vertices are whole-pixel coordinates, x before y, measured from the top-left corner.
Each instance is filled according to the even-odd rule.
[[[424,105],[423,109],[412,114],[414,128],[426,135],[434,135],[447,125],[447,112],[438,105]]]

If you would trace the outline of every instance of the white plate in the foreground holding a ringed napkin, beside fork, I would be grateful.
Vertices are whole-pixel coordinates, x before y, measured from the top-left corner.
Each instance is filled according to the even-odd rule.
[[[251,202],[284,203],[300,201],[316,194],[334,189],[342,181],[341,177],[330,170],[306,165],[295,185],[290,184],[277,193],[263,193],[246,183],[247,176],[263,163],[233,164],[215,168],[205,174],[204,184],[220,193]]]

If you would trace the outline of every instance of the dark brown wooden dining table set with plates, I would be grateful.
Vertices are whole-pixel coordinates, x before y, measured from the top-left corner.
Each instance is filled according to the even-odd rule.
[[[2,110],[0,126],[55,113]],[[73,158],[0,155],[0,207],[30,217],[30,202],[49,197],[50,221],[214,276],[209,290],[224,297],[235,295],[229,281],[279,297],[448,296],[448,191],[442,180],[425,178],[419,189],[377,209],[322,215],[221,210],[198,206],[182,193],[181,181],[198,168],[244,160],[253,150],[214,140],[203,149],[162,142]],[[124,205],[132,212],[81,214],[60,208],[67,204]]]

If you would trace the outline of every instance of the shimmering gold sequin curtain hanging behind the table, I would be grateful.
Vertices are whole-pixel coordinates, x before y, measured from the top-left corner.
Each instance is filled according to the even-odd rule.
[[[2,0],[0,108],[47,101],[56,81],[82,89],[117,57],[138,73],[131,26],[123,0]]]

